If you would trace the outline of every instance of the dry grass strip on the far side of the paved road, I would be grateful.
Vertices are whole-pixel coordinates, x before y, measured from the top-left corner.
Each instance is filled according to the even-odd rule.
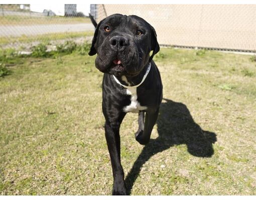
[[[36,25],[36,24],[63,24],[63,23],[90,23],[89,17],[65,16],[0,16],[0,25]]]

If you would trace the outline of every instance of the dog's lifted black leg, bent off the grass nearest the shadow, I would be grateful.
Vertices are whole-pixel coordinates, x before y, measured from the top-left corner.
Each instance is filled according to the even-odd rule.
[[[159,113],[159,108],[154,112],[147,111],[146,117],[145,117],[145,124],[144,124],[144,113],[143,114],[139,113],[139,130],[136,132],[135,137],[140,144],[145,145],[149,143],[150,135],[157,121],[158,113]],[[140,129],[140,126],[141,128],[143,127],[142,130]]]

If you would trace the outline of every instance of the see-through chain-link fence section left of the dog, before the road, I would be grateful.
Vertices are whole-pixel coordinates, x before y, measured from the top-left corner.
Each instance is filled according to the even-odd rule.
[[[0,4],[0,49],[91,40],[89,10],[90,4]]]

